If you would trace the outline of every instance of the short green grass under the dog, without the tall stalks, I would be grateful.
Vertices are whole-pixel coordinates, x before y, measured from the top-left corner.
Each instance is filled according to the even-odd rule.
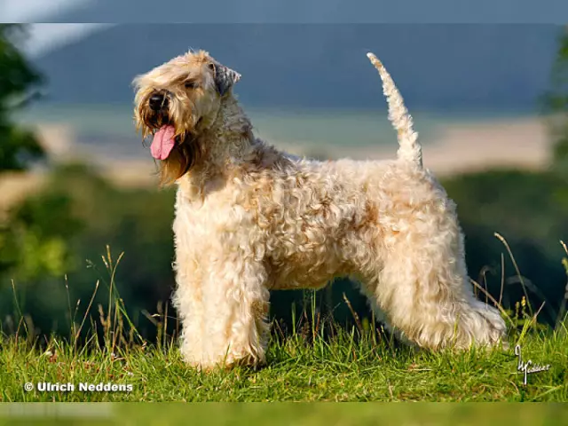
[[[346,333],[308,344],[272,342],[268,366],[199,373],[175,346],[75,351],[52,339],[49,352],[15,339],[0,352],[2,401],[568,401],[566,333],[527,335],[523,357],[549,364],[518,375],[513,351],[461,354],[395,349]],[[130,392],[25,391],[24,383],[130,384]]]

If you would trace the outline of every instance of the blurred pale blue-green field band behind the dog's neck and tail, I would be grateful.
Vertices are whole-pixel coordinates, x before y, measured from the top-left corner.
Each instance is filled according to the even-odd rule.
[[[383,102],[378,99],[377,102]],[[393,130],[386,109],[376,110],[291,110],[245,107],[257,136],[281,142],[309,142],[322,146],[391,144]],[[412,111],[411,111],[412,113]],[[517,111],[413,113],[422,143],[435,138],[438,128],[452,123],[493,122],[533,116]],[[16,117],[24,123],[61,123],[75,129],[78,138],[136,138],[130,105],[46,105],[32,106]],[[353,136],[356,135],[356,138]]]

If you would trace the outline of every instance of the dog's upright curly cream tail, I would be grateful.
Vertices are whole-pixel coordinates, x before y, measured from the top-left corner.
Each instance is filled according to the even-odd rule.
[[[389,120],[398,131],[398,158],[422,168],[422,147],[418,143],[418,133],[413,129],[412,116],[408,114],[404,99],[383,63],[371,52],[367,53],[367,58],[383,80],[383,92],[389,104]]]

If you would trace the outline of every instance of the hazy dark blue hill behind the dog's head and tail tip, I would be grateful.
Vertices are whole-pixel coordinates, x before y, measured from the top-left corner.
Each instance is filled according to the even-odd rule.
[[[120,3],[120,2],[119,2]],[[411,110],[532,109],[547,87],[552,25],[121,24],[67,44],[36,65],[48,102],[130,103],[130,82],[188,48],[242,75],[247,106],[383,107],[375,51]]]

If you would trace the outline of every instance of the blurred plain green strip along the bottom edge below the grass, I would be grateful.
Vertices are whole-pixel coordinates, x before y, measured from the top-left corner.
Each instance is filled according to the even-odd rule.
[[[43,420],[0,417],[0,425],[138,425],[217,424],[273,425],[498,425],[561,426],[568,424],[568,406],[559,404],[35,404],[4,406],[0,415],[45,413]],[[76,415],[83,410],[83,420]],[[74,415],[75,413],[75,415]],[[54,417],[57,416],[55,420]],[[48,420],[50,419],[51,420]]]

